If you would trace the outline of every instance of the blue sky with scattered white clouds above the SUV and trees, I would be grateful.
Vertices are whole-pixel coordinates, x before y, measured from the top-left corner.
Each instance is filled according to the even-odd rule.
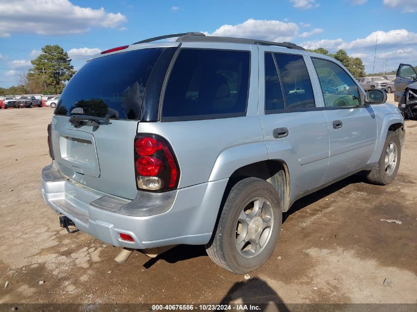
[[[77,69],[91,55],[144,38],[189,31],[343,48],[372,72],[417,65],[417,0],[0,0],[0,87],[19,82],[45,44]]]

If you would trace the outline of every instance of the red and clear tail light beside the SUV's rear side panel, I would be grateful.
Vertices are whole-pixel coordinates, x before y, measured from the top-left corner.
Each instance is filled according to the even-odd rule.
[[[180,169],[166,139],[153,134],[137,135],[134,150],[138,189],[164,192],[178,186]]]

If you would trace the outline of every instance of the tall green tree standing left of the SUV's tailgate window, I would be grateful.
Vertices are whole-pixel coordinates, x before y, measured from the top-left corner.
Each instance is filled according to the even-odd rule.
[[[60,94],[75,74],[68,53],[59,45],[45,45],[27,74],[27,89],[31,93]]]

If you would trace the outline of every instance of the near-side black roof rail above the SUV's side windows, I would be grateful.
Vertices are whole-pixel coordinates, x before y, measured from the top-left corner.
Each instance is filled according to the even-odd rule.
[[[191,41],[273,45],[273,46],[281,46],[281,47],[285,47],[289,49],[305,50],[303,47],[292,42],[274,42],[274,41],[247,39],[247,38],[205,36],[204,34],[193,35],[192,33],[187,33],[185,35],[179,36],[177,39],[177,42],[191,42]]]

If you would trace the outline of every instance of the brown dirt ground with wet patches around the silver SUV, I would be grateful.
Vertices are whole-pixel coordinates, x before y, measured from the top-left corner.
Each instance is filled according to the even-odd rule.
[[[409,303],[417,308],[417,121],[396,180],[355,175],[299,200],[260,269],[217,267],[202,246],[151,259],[59,227],[39,192],[53,109],[0,110],[0,303]],[[380,219],[395,219],[402,224]],[[44,281],[39,284],[39,281]],[[7,287],[4,287],[8,282]]]

